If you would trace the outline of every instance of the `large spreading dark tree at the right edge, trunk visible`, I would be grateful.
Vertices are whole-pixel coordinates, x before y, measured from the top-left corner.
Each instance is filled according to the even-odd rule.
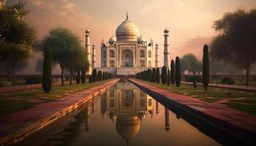
[[[256,8],[227,12],[214,22],[219,35],[211,42],[211,58],[224,60],[246,70],[246,85],[249,85],[250,66],[256,57]]]

